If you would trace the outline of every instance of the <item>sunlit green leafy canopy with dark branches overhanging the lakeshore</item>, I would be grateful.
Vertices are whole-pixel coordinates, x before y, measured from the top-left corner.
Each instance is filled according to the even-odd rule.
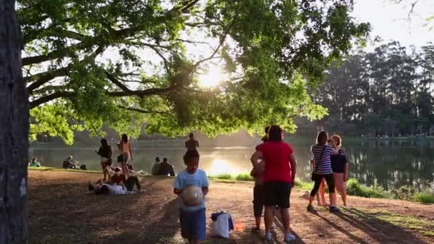
[[[308,88],[364,41],[351,0],[21,0],[31,135],[72,143],[103,123],[214,136],[321,118]],[[201,73],[223,66],[218,86]]]

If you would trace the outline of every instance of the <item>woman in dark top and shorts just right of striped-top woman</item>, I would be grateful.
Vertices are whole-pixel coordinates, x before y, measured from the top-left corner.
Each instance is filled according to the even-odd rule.
[[[338,151],[338,154],[331,156],[331,168],[333,170],[333,180],[335,181],[335,189],[340,193],[343,205],[347,206],[346,184],[348,180],[348,161],[345,156],[345,151],[341,148],[342,139],[340,136],[332,136],[332,147]],[[335,201],[336,203],[336,201]]]

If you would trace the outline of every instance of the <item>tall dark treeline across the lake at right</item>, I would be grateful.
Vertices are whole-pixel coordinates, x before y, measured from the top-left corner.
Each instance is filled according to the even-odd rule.
[[[358,51],[311,91],[328,108],[321,121],[298,121],[298,135],[324,128],[348,136],[415,136],[433,133],[434,45],[420,49],[396,41]]]

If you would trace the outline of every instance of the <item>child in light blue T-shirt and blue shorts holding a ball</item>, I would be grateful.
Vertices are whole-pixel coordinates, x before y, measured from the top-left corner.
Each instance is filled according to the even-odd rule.
[[[208,193],[208,179],[205,171],[198,168],[199,153],[196,150],[187,151],[184,155],[186,169],[179,172],[173,182],[173,193],[178,195],[178,204],[181,208],[181,235],[188,239],[188,243],[199,243],[206,238],[205,198],[199,205],[185,205],[181,200],[181,193],[188,185],[202,188],[203,195]]]

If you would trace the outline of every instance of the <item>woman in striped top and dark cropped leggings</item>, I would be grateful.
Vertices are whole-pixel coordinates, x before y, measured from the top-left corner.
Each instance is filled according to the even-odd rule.
[[[325,131],[318,133],[316,138],[316,145],[313,145],[311,152],[313,154],[313,173],[312,181],[315,181],[311,195],[309,196],[308,211],[313,212],[312,202],[315,198],[318,189],[320,188],[321,181],[325,179],[328,185],[328,195],[330,197],[330,212],[338,212],[339,209],[335,207],[335,185],[333,182],[333,171],[331,169],[330,156],[332,154],[337,154],[338,151],[331,148],[327,144],[328,135]]]

